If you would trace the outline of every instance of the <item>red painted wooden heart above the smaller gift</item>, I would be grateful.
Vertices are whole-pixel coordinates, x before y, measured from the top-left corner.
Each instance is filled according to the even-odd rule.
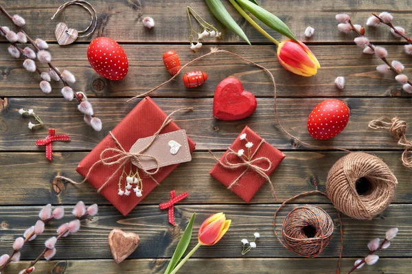
[[[233,77],[225,78],[216,87],[213,115],[216,119],[233,121],[249,117],[258,106],[255,95],[244,91],[242,83]]]

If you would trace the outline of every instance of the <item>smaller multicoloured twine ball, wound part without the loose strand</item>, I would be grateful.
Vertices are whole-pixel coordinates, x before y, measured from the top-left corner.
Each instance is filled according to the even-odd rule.
[[[286,216],[282,236],[286,247],[299,255],[314,258],[332,239],[332,218],[314,205],[296,207]]]

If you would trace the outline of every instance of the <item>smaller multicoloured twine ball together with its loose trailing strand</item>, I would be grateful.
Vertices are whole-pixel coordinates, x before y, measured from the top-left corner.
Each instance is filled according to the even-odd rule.
[[[330,218],[330,216],[320,207],[312,205],[296,207],[284,219],[282,225],[282,238],[284,240],[279,237],[279,234],[276,231],[276,218],[277,214],[286,203],[293,201],[300,196],[310,194],[321,194],[328,198],[327,194],[319,190],[297,194],[292,198],[288,198],[288,200],[284,201],[284,203],[279,206],[273,219],[273,231],[275,231],[275,235],[280,244],[290,251],[299,255],[304,255],[306,258],[316,257],[330,242],[334,230],[332,218]],[[343,222],[339,211],[336,210],[336,212],[338,214],[339,231],[341,233],[341,249],[339,252],[338,269],[336,270],[336,274],[339,274],[341,271],[341,259],[343,254]],[[311,238],[304,233],[304,228],[307,226],[313,227],[315,230],[314,236]]]

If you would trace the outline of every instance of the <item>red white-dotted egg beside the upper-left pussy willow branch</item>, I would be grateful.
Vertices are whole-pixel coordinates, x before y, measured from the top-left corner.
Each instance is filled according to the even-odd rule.
[[[124,49],[113,39],[98,37],[91,41],[87,58],[93,69],[104,78],[121,80],[128,71]]]

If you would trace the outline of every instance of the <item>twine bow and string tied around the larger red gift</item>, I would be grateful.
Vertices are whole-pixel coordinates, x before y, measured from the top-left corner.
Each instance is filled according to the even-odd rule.
[[[156,157],[154,157],[152,155],[145,155],[144,152],[148,148],[150,148],[150,146],[152,146],[152,144],[155,141],[156,137],[161,133],[161,130],[163,130],[163,128],[165,128],[165,126],[168,126],[168,124],[170,124],[172,122],[172,119],[170,117],[172,115],[174,115],[174,113],[179,112],[179,111],[193,111],[193,108],[190,107],[190,108],[178,109],[177,111],[173,111],[172,113],[170,113],[170,115],[168,115],[168,117],[166,117],[166,119],[163,121],[163,124],[161,124],[159,130],[157,130],[157,132],[154,135],[152,135],[152,139],[150,140],[150,142],[144,148],[142,148],[139,152],[132,153],[132,152],[127,152],[126,150],[124,150],[122,144],[120,144],[119,141],[117,141],[116,137],[110,131],[109,134],[111,135],[111,137],[112,137],[113,141],[115,142],[117,148],[106,148],[106,149],[104,149],[100,153],[100,160],[95,161],[95,163],[93,163],[93,165],[91,165],[91,167],[89,168],[89,171],[87,172],[87,174],[84,177],[83,181],[76,182],[76,181],[73,181],[72,179],[67,178],[65,176],[56,176],[55,178],[65,180],[68,183],[73,183],[74,185],[80,185],[80,184],[86,182],[87,179],[89,179],[89,175],[91,174],[91,172],[94,170],[94,168],[97,165],[106,165],[106,166],[119,165],[118,168],[115,170],[115,172],[113,172],[111,174],[111,176],[109,176],[108,179],[106,179],[106,181],[104,181],[102,186],[98,189],[98,192],[100,193],[100,191],[102,191],[104,189],[104,187],[106,187],[106,185],[111,181],[111,179],[113,179],[113,177],[120,170],[122,170],[122,168],[124,168],[124,165],[130,163],[130,161],[134,161],[135,163],[140,163],[141,157],[148,157],[148,158],[154,159],[156,161],[157,168],[152,172],[150,172],[149,170],[143,170],[143,172],[144,172],[144,174],[149,176],[150,179],[155,181],[155,183],[157,185],[159,185],[159,183],[153,177],[153,175],[157,174],[157,172],[159,172],[159,170],[160,170],[160,168],[159,168],[159,159],[157,159]],[[113,154],[113,155],[105,157],[104,155],[108,152],[111,152],[111,154]]]

